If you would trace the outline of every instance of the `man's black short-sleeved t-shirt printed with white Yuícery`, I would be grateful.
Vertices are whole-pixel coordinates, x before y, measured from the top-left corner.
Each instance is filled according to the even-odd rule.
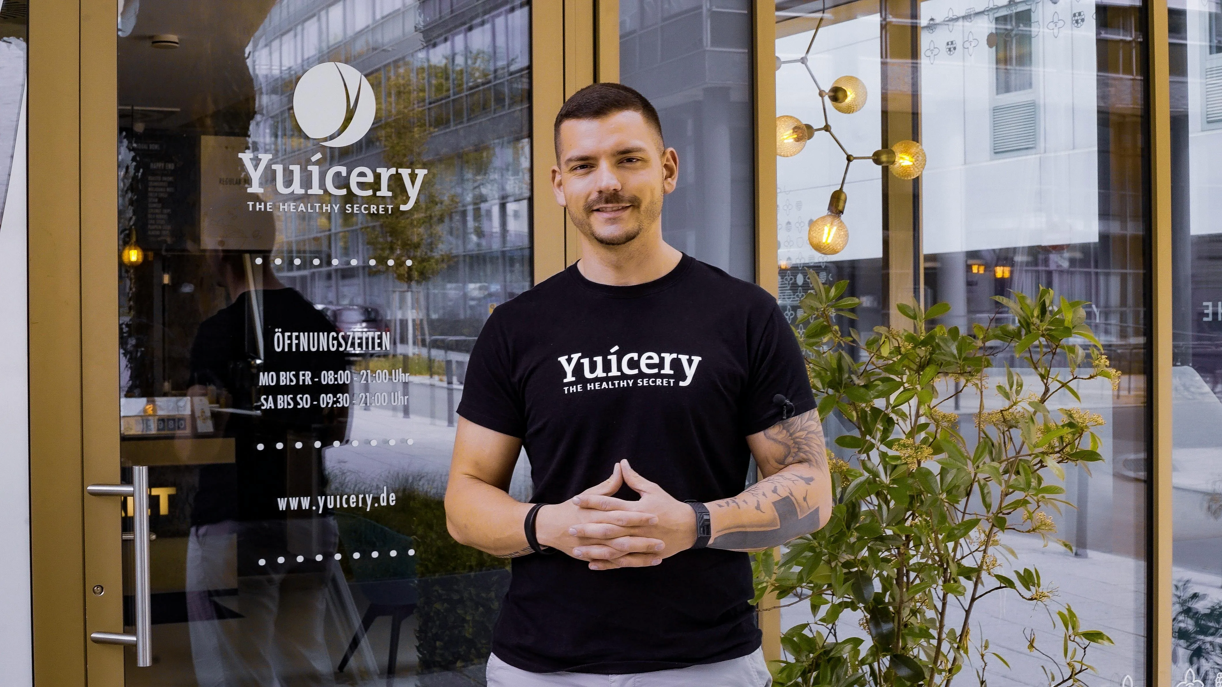
[[[470,356],[458,413],[523,439],[535,502],[629,463],[679,500],[741,493],[745,438],[814,407],[805,366],[763,288],[683,255],[634,286],[577,266],[500,306]],[[627,487],[621,498],[635,499]],[[760,645],[748,555],[688,550],[591,571],[563,553],[513,560],[492,652],[533,672],[627,674],[744,656]]]

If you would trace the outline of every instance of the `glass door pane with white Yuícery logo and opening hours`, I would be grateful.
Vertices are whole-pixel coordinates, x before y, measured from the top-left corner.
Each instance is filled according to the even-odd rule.
[[[128,685],[483,675],[507,561],[442,496],[470,346],[532,284],[529,12],[121,12],[116,430],[152,538],[125,625],[147,610],[153,647]]]

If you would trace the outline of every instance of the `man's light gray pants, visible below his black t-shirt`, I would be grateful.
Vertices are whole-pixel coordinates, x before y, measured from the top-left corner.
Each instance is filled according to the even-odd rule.
[[[529,672],[496,658],[488,659],[488,687],[770,687],[772,676],[764,649],[728,661],[654,672],[595,675],[591,672]]]

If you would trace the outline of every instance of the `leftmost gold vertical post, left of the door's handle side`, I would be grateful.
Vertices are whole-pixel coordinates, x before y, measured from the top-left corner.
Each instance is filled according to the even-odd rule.
[[[38,685],[86,683],[79,10],[75,0],[29,6],[29,534]],[[114,2],[109,10],[114,31]],[[106,593],[122,598],[120,587]]]

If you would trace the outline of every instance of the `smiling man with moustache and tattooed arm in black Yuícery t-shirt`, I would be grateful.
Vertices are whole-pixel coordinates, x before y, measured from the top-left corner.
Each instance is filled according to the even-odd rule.
[[[743,551],[832,506],[797,341],[764,290],[662,241],[678,156],[644,97],[579,90],[556,156],[582,259],[489,318],[446,494],[456,539],[514,556],[488,683],[767,685]],[[521,446],[535,505],[505,493]]]

